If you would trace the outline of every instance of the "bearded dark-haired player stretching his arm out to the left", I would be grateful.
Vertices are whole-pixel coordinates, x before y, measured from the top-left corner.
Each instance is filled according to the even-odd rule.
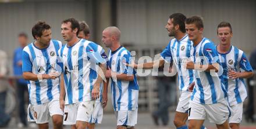
[[[180,98],[176,108],[175,119],[173,123],[176,128],[187,128],[187,111],[189,110],[189,101],[191,92],[187,89],[194,81],[193,70],[186,69],[183,65],[186,64],[187,59],[190,58],[191,47],[193,43],[189,40],[185,30],[186,16],[181,13],[173,13],[169,16],[168,22],[165,26],[169,32],[169,36],[174,36],[171,39],[168,46],[162,51],[161,58],[154,62],[147,62],[144,64],[134,64],[134,68],[155,68],[163,67],[166,62],[174,62],[177,69],[177,75],[179,79]],[[158,66],[159,64],[159,66]],[[129,65],[133,66],[133,64]],[[204,128],[204,126],[202,126]]]

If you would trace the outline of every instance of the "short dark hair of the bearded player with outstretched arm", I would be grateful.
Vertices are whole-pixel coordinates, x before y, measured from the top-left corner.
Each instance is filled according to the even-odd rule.
[[[182,31],[183,33],[186,32],[186,28],[185,28],[186,16],[184,16],[184,14],[173,13],[169,16],[169,19],[173,19],[172,21],[173,25],[179,25],[180,31]]]

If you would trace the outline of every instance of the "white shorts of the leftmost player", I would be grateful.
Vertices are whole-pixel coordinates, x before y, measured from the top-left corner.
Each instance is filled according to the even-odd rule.
[[[35,121],[37,124],[49,122],[49,116],[62,115],[63,111],[59,108],[59,100],[52,100],[41,105],[31,105],[27,108],[27,120]]]

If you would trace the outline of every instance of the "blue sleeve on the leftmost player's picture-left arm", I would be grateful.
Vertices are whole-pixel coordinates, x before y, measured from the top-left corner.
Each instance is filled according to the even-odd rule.
[[[29,54],[24,50],[22,53],[22,71],[32,72],[32,62],[30,61]]]

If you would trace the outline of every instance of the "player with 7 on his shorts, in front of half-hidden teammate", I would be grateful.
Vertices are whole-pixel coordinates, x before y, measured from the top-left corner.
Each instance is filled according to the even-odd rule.
[[[76,19],[62,21],[61,34],[67,44],[59,55],[63,61],[60,103],[65,114],[64,124],[81,129],[90,122],[106,68],[99,46],[77,38],[79,28]]]

